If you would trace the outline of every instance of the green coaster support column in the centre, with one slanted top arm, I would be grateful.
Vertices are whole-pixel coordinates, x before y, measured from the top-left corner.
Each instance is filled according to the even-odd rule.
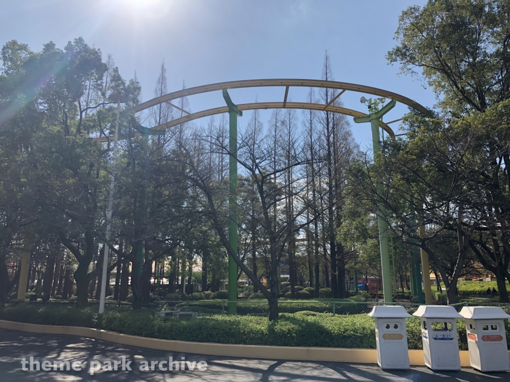
[[[228,242],[237,254],[237,116],[243,113],[232,102],[226,89],[223,89],[223,98],[228,106],[229,123],[229,151],[228,158]],[[237,264],[231,255],[228,255],[228,314],[237,314]]]

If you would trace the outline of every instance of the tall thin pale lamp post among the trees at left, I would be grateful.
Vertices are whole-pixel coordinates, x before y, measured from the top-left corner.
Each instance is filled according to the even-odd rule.
[[[108,253],[110,248],[108,247],[108,241],[110,240],[110,229],[112,227],[112,209],[113,209],[113,189],[115,186],[115,165],[117,163],[117,140],[119,133],[119,113],[120,104],[125,103],[131,99],[131,96],[124,95],[124,91],[120,93],[111,94],[108,97],[110,101],[117,102],[117,119],[115,121],[115,138],[113,144],[113,155],[112,155],[112,176],[110,178],[110,195],[108,197],[108,210],[107,210],[107,224],[106,224],[106,235],[105,235],[105,252],[103,256],[103,275],[101,277],[101,296],[99,298],[99,314],[105,312],[105,299],[106,299],[106,276],[108,274]]]

